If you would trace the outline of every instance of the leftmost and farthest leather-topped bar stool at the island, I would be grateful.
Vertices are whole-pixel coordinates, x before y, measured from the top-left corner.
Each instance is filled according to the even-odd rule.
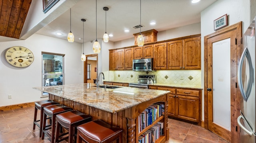
[[[42,125],[43,125],[43,117],[44,117],[44,107],[59,104],[58,102],[54,102],[52,100],[42,100],[35,102],[35,112],[34,112],[34,124],[33,129],[36,128],[36,125],[39,127],[39,136],[42,137]],[[40,111],[40,120],[36,120],[37,117],[37,111]],[[40,124],[38,123],[40,121]]]

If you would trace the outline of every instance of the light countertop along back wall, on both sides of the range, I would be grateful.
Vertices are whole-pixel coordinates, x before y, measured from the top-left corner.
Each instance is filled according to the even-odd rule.
[[[120,83],[130,83],[129,81],[120,81],[120,80],[110,80],[105,82],[120,82]],[[156,85],[156,86],[166,86],[166,87],[176,87],[176,88],[191,88],[191,89],[203,89],[201,86],[194,86],[194,85],[184,85],[184,84],[168,84],[168,83],[153,83],[148,85]]]

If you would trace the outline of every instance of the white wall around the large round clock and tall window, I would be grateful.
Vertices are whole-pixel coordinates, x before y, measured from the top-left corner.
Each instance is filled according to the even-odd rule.
[[[34,54],[33,63],[27,68],[16,68],[9,65],[4,58],[6,49],[23,46]],[[41,93],[32,87],[42,86],[42,51],[65,54],[64,83],[83,82],[81,44],[69,43],[67,40],[56,39],[34,34],[26,40],[0,42],[0,106],[39,101]],[[8,95],[12,94],[12,99]]]

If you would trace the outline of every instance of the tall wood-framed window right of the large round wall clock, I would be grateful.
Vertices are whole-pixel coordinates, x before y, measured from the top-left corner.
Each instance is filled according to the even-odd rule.
[[[42,52],[42,86],[64,84],[64,55]],[[42,96],[48,96],[43,93]]]

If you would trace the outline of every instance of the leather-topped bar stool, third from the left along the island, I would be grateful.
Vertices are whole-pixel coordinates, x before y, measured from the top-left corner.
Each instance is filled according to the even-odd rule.
[[[74,136],[74,131],[76,132],[76,127],[78,125],[82,125],[89,121],[92,121],[92,116],[83,114],[77,110],[73,110],[73,111],[69,111],[69,112],[65,112],[65,113],[56,115],[56,131],[55,131],[54,143],[58,143],[67,138],[68,138],[69,143],[73,143],[73,136]],[[62,133],[60,135],[60,127],[65,127],[66,129],[68,129],[68,132]],[[62,137],[67,134],[68,134],[68,137],[59,139],[59,137]],[[76,138],[75,138],[75,141],[76,141]]]

